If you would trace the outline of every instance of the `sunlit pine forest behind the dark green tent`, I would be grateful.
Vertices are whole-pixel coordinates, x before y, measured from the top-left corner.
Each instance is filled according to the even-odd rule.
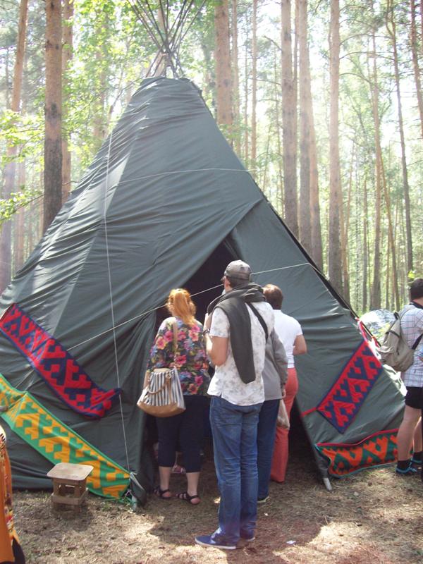
[[[176,66],[154,41],[171,21]],[[357,314],[407,302],[423,276],[418,0],[0,0],[0,22],[1,290],[140,82],[166,72],[200,87]]]

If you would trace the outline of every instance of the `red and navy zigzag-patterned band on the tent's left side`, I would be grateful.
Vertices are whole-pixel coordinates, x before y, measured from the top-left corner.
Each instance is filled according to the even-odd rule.
[[[105,391],[95,384],[70,353],[44,331],[18,304],[6,309],[0,331],[32,368],[71,409],[88,417],[103,417],[121,390]]]

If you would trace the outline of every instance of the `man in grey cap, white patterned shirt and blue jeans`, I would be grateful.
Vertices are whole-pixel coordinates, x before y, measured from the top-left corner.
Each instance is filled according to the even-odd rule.
[[[257,424],[274,313],[250,275],[245,262],[230,262],[222,278],[225,295],[209,305],[204,321],[207,353],[216,367],[208,393],[221,501],[218,529],[195,542],[225,550],[234,550],[239,539],[254,541],[257,522]]]

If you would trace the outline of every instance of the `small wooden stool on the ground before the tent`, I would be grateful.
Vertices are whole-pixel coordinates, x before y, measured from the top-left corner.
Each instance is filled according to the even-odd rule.
[[[94,467],[87,464],[68,464],[59,462],[47,476],[53,480],[53,494],[51,503],[54,509],[61,505],[71,505],[75,512],[79,512],[82,503],[88,495],[87,477]]]

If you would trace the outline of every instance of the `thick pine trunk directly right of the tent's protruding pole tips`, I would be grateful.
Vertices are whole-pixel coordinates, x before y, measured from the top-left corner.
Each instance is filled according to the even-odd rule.
[[[216,109],[217,123],[227,125],[231,133],[232,116],[232,71],[231,45],[229,42],[228,0],[221,0],[214,8],[216,34]]]

